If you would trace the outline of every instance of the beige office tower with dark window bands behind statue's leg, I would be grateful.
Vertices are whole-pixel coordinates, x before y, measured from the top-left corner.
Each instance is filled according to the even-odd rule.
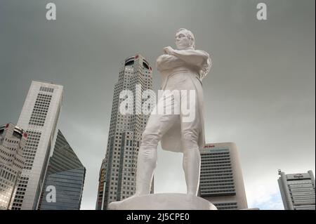
[[[235,143],[206,144],[201,150],[199,195],[218,210],[248,208]]]

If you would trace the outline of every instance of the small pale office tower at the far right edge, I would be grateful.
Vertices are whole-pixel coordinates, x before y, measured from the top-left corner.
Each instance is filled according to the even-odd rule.
[[[285,174],[279,170],[277,182],[285,210],[315,210],[315,177],[312,171]]]

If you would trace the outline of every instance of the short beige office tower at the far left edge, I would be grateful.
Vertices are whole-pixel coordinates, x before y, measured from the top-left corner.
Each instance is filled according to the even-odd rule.
[[[14,124],[0,126],[0,210],[11,209],[25,158],[27,133]]]

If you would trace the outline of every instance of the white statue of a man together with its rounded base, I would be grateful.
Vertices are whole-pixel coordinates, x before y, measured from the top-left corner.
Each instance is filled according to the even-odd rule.
[[[178,29],[175,40],[178,50],[167,46],[164,54],[157,59],[164,93],[152,110],[142,134],[136,194],[121,202],[110,203],[108,209],[217,210],[211,202],[196,196],[201,164],[199,149],[205,145],[202,79],[211,68],[211,58],[205,51],[195,50],[195,37],[190,30]],[[172,94],[169,94],[171,91]],[[173,98],[173,95],[178,97]],[[187,104],[189,112],[184,110]],[[170,109],[169,112],[173,110],[173,114],[164,112],[165,109]],[[164,150],[183,152],[187,194],[149,195],[157,166],[159,141]]]

